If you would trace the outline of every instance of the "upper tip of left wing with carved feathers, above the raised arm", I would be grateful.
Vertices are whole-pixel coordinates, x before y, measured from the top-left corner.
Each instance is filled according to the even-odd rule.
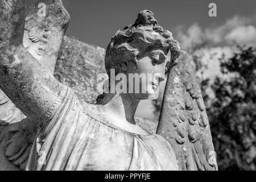
[[[42,4],[46,5],[46,16],[40,15],[39,10],[44,9]],[[27,11],[23,45],[51,73],[69,20],[60,0],[40,0]]]

